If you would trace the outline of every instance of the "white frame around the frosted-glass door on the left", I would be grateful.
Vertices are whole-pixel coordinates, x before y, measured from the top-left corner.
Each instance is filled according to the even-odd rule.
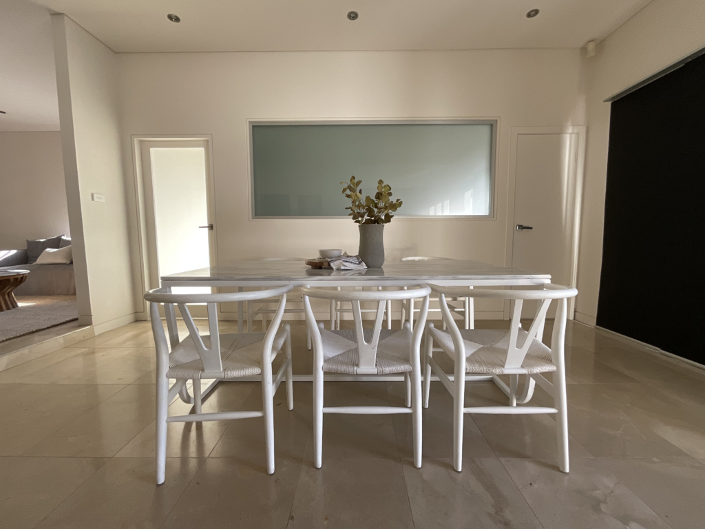
[[[140,260],[140,279],[142,285],[142,293],[140,293],[142,315],[138,314],[138,319],[149,320],[149,310],[147,308],[147,302],[142,297],[142,294],[152,290],[152,288],[159,288],[159,284],[152,284],[152,278],[150,274],[150,269],[154,266],[152,260],[154,256],[151,255],[151,250],[149,249],[149,223],[153,219],[149,219],[149,213],[153,212],[153,205],[147,204],[147,193],[145,193],[145,175],[142,165],[142,147],[149,142],[185,142],[185,141],[201,141],[206,144],[206,179],[207,179],[207,202],[208,202],[208,214],[209,218],[212,219],[213,230],[211,233],[212,244],[210,245],[210,262],[212,267],[218,266],[218,245],[217,245],[217,223],[216,223],[216,193],[215,193],[215,178],[213,169],[213,137],[210,134],[201,135],[132,135],[130,137],[133,150],[133,175],[134,175],[134,186],[135,186],[135,203],[137,207],[135,208],[135,213],[137,218],[135,219],[137,223],[137,247],[139,250],[139,260]],[[150,196],[151,193],[149,193]]]

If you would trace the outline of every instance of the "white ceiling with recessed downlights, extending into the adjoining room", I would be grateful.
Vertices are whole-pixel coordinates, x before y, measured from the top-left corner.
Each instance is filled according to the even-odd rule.
[[[50,12],[118,52],[578,48],[649,1],[1,0],[0,131],[59,130]]]

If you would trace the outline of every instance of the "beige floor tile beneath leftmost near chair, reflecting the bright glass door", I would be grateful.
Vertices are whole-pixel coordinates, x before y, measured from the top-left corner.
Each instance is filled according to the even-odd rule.
[[[214,411],[238,411],[255,389],[248,382],[221,382],[203,401],[204,413]],[[178,397],[169,406],[169,415],[188,415],[193,406],[183,403]],[[171,422],[166,439],[167,457],[206,457],[213,450],[226,429],[234,421]],[[116,454],[116,457],[154,457],[156,430],[154,421],[137,434]],[[262,438],[264,442],[264,437]]]

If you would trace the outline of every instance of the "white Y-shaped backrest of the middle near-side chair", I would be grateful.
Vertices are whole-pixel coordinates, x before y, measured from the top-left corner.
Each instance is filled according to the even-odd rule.
[[[355,336],[357,338],[357,353],[359,358],[357,373],[359,375],[376,375],[377,344],[379,343],[382,318],[384,317],[384,308],[387,301],[423,298],[422,308],[419,312],[416,327],[412,329],[413,334],[411,351],[415,349],[418,350],[421,345],[421,337],[424,332],[426,316],[429,310],[429,294],[431,293],[431,288],[427,286],[398,291],[338,291],[324,290],[322,288],[309,288],[308,286],[305,286],[301,289],[301,292],[304,296],[306,323],[313,338],[314,363],[317,368],[320,368],[323,365],[323,341],[321,339],[321,329],[319,329],[316,324],[316,318],[311,308],[309,298],[333,301],[350,301],[350,303],[352,303],[353,319],[355,320]],[[374,330],[372,332],[372,339],[370,339],[369,342],[364,340],[364,333],[362,330],[362,310],[360,309],[361,301],[377,302],[376,315],[374,318]],[[408,326],[408,322],[405,323],[405,325]]]

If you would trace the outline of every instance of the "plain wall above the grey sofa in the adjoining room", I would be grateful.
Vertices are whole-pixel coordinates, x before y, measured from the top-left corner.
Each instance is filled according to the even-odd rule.
[[[0,132],[0,249],[68,229],[61,133]]]

